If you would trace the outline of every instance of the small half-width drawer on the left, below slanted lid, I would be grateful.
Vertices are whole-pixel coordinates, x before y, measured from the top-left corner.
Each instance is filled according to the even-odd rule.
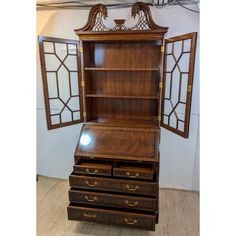
[[[112,162],[80,159],[73,170],[79,174],[111,176]]]

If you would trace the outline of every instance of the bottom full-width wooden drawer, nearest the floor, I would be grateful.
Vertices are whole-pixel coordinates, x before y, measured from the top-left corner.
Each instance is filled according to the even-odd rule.
[[[155,230],[155,214],[138,214],[116,210],[106,210],[81,207],[70,204],[67,208],[69,220],[85,220],[107,224],[117,224],[126,227],[139,228],[145,230]]]

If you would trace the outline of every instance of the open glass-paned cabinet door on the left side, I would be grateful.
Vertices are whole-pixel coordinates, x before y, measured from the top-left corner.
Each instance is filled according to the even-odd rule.
[[[48,129],[82,122],[79,41],[39,36]]]

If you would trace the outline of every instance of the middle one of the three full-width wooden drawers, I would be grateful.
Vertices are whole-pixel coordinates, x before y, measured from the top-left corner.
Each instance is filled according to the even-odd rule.
[[[122,207],[137,210],[158,210],[157,199],[146,197],[131,197],[119,194],[106,194],[70,189],[70,202],[103,205],[110,207]]]

